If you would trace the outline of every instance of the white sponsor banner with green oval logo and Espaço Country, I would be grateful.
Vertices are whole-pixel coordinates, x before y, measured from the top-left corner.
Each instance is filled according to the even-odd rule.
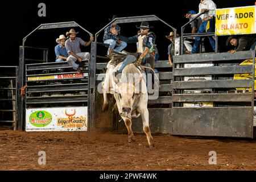
[[[88,107],[26,109],[26,131],[87,131]]]

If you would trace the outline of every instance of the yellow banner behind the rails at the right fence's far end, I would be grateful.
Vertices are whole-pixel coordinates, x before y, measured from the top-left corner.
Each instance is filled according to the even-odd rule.
[[[243,61],[240,65],[250,65],[253,64],[253,60],[249,59],[249,60],[245,60]],[[255,70],[256,73],[256,70]],[[254,75],[255,76],[255,75]],[[249,79],[251,80],[251,78],[253,78],[253,74],[252,73],[240,73],[240,74],[234,74],[234,80],[246,80]],[[245,92],[251,92],[251,88],[236,88],[237,91],[242,91],[243,93]],[[256,82],[254,79],[254,90],[256,90]]]

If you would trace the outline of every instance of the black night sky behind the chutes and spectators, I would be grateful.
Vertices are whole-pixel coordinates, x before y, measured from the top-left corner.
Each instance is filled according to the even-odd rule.
[[[46,3],[46,17],[38,16],[38,4]],[[19,46],[22,45],[22,39],[32,30],[42,23],[53,22],[68,22],[75,21],[86,30],[95,34],[107,23],[109,18],[118,15],[123,16],[138,16],[138,15],[156,15],[163,19],[171,26],[177,28],[180,32],[181,26],[188,19],[184,15],[189,10],[198,12],[200,0],[183,0],[183,1],[5,1],[1,5],[1,65],[18,65]],[[217,8],[251,6],[255,0],[214,0]],[[170,40],[167,40],[164,35],[168,35],[171,31],[163,23],[149,22],[150,26],[154,26],[151,31],[156,34],[156,44],[160,52],[160,60],[167,60],[167,47]],[[119,24],[121,34],[125,36],[133,36],[138,29],[135,25],[140,23]],[[56,46],[55,39],[60,34],[65,34],[70,28],[57,28],[55,30],[36,31],[26,41],[26,46],[45,47],[49,48],[49,59],[55,61],[54,47]],[[79,37],[85,41],[89,40],[89,35],[80,28],[75,28],[79,31]],[[191,31],[188,27],[186,31]],[[98,41],[102,42],[101,33]],[[221,51],[226,51],[224,46],[226,37],[219,38],[219,46]],[[89,51],[90,46],[83,48],[82,51]],[[126,47],[127,51],[134,52],[135,44],[130,44]]]

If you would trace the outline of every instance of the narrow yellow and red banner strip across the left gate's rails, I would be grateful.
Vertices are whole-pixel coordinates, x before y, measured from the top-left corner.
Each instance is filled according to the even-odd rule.
[[[88,76],[88,73],[80,73],[80,74],[65,74],[65,75],[49,75],[49,76],[34,76],[28,77],[28,81],[36,81],[36,80],[61,80],[65,78],[83,78]]]

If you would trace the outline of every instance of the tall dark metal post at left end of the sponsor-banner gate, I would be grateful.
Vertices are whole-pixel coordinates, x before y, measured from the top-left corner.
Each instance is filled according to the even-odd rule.
[[[19,47],[19,72],[18,72],[18,87],[16,88],[19,90],[19,88],[22,88],[23,86],[23,76],[24,76],[24,46]],[[18,92],[18,91],[17,91]],[[18,93],[17,93],[18,94]],[[24,114],[24,101],[22,95],[17,95],[17,107],[18,110],[16,112],[17,114],[17,130],[22,131],[23,130],[23,114]]]

